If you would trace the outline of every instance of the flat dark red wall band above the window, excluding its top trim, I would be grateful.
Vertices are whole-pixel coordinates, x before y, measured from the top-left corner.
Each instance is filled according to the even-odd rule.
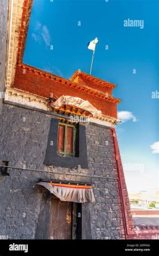
[[[94,92],[90,93],[89,90],[86,92],[84,88],[80,88],[78,84],[72,83],[72,81],[64,81],[64,79],[61,79],[61,82],[54,81],[54,79],[42,76],[38,72],[40,70],[37,70],[36,74],[31,70],[27,70],[25,66],[22,68],[17,65],[13,87],[47,98],[51,97],[51,93],[54,93],[57,97],[61,95],[80,97],[84,100],[89,100],[96,109],[102,111],[103,115],[117,118],[116,103],[103,99]],[[57,78],[60,79],[60,77]],[[76,87],[73,88],[73,86]]]

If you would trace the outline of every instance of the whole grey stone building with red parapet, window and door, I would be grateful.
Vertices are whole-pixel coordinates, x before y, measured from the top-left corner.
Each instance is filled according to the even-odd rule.
[[[32,4],[8,4],[0,234],[133,239],[114,129],[121,102],[112,96],[116,85],[80,70],[65,79],[22,63]]]

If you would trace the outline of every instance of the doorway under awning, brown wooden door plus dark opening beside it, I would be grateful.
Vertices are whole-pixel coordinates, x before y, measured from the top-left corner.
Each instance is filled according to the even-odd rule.
[[[49,239],[82,239],[82,205],[51,199]]]

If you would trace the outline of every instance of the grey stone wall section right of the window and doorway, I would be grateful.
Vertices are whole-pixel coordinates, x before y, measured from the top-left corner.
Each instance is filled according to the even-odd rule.
[[[120,239],[121,202],[117,177],[116,154],[112,130],[95,124],[87,126],[89,170],[92,175],[108,179],[93,179],[96,203],[91,205],[93,239]]]

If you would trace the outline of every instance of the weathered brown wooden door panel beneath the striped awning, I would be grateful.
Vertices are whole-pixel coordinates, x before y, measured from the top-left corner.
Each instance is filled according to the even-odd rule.
[[[72,202],[51,200],[49,239],[72,239]]]

